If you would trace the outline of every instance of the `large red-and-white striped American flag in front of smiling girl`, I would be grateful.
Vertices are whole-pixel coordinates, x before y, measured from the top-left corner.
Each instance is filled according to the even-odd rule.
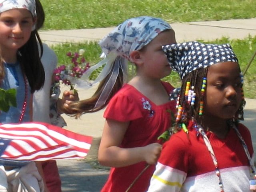
[[[78,159],[88,154],[92,137],[42,122],[0,125],[0,158]]]

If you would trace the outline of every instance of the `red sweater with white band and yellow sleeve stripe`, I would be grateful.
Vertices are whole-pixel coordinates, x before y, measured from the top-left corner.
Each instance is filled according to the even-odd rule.
[[[238,130],[253,154],[251,135],[244,125]],[[206,132],[218,165],[225,192],[249,192],[249,162],[234,129],[225,139]],[[216,192],[220,191],[212,158],[202,136],[195,130],[174,134],[163,146],[148,192]]]

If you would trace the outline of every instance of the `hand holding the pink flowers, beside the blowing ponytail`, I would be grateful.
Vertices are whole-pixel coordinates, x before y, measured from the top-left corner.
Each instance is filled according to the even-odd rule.
[[[78,92],[75,90],[64,91],[62,99],[58,101],[58,112],[66,114],[74,114],[70,104],[79,101]]]

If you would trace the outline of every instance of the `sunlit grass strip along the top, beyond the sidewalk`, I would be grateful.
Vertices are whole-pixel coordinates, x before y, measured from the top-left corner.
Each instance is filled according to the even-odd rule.
[[[148,15],[172,22],[256,17],[256,0],[41,0],[44,30],[116,26]]]

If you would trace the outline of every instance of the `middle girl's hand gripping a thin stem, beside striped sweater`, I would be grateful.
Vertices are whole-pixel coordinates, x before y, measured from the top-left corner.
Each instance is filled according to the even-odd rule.
[[[143,149],[145,161],[148,164],[156,164],[161,151],[162,151],[162,145],[158,143],[152,143],[145,146]]]

